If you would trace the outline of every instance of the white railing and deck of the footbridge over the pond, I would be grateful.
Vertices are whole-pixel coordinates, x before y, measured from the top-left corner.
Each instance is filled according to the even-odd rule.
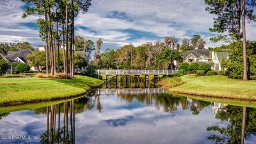
[[[177,70],[98,69],[98,75],[173,75]]]

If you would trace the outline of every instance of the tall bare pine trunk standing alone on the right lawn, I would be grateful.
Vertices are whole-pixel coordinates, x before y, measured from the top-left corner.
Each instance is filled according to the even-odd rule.
[[[245,33],[245,6],[244,1],[242,0],[242,25],[243,25],[243,61],[244,61],[244,76],[243,80],[248,81],[247,79],[247,57],[246,57],[246,33]]]

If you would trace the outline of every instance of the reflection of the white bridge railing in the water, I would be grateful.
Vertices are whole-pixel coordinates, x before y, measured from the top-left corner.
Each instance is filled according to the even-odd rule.
[[[98,94],[142,94],[142,93],[167,93],[162,89],[98,89]]]

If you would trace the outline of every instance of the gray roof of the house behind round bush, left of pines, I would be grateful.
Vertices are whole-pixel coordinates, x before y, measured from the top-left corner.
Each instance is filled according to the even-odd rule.
[[[13,52],[9,55],[6,55],[5,58],[8,59],[9,61],[13,61],[17,57],[19,57],[19,58],[22,58],[21,59],[22,61],[24,60],[24,62],[27,63],[28,61],[27,61],[26,56],[30,53],[33,53],[33,51],[30,49],[26,49],[26,50],[22,50],[22,51],[18,51],[18,52]]]

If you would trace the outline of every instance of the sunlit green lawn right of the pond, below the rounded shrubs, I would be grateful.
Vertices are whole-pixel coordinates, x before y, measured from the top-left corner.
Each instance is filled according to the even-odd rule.
[[[168,89],[170,92],[256,100],[256,81],[242,81],[227,76],[185,75],[180,78],[183,84]]]

